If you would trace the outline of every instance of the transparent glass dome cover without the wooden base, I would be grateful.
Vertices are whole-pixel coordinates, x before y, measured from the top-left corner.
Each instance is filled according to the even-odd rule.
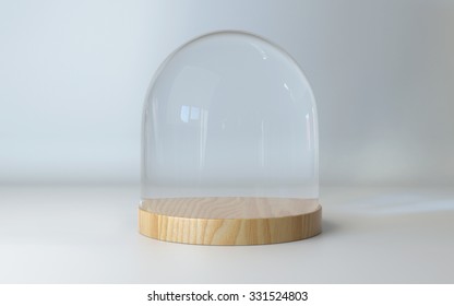
[[[311,87],[288,54],[258,36],[208,34],[171,54],[148,89],[142,127],[142,208],[148,199],[319,197]]]

